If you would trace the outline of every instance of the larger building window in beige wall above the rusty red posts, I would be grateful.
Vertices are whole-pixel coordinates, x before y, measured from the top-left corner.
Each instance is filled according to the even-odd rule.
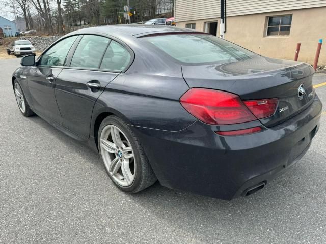
[[[268,17],[266,36],[288,36],[292,15]]]

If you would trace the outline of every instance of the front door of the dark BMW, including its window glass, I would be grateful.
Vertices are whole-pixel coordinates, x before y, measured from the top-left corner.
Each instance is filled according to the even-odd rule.
[[[76,39],[77,36],[71,36],[50,47],[28,74],[27,83],[33,100],[33,110],[59,124],[62,119],[55,96],[56,78]]]

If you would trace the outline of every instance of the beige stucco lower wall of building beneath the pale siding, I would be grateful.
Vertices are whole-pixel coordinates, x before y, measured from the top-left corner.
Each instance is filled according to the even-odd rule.
[[[288,37],[265,37],[268,16],[292,14],[291,31]],[[189,16],[191,18],[191,16]],[[205,19],[177,22],[178,27],[196,23],[197,31],[205,31]],[[219,25],[218,25],[219,26]],[[218,35],[220,31],[218,30]],[[326,65],[326,7],[279,11],[261,14],[232,16],[227,18],[225,39],[264,56],[293,59],[297,43],[301,43],[299,59],[312,64],[317,43],[323,39],[318,64]]]

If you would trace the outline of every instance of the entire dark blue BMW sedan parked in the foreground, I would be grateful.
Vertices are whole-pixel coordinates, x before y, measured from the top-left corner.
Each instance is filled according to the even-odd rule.
[[[24,116],[98,151],[114,184],[246,196],[300,160],[322,105],[305,63],[155,25],[82,29],[12,77]]]

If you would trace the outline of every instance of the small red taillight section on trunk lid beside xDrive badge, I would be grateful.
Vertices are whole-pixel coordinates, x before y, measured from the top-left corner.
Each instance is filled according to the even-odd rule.
[[[274,114],[277,108],[278,99],[270,98],[243,102],[258,119],[261,119]]]

